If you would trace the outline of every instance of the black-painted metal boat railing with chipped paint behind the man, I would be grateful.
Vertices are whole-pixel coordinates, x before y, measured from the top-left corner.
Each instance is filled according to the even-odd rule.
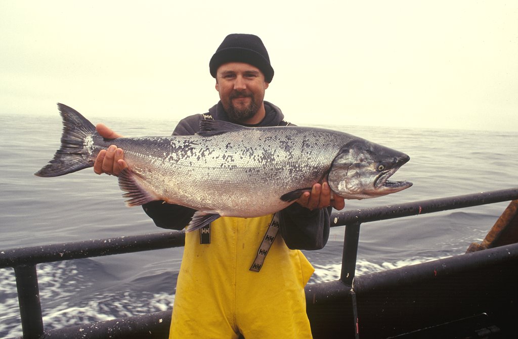
[[[362,223],[515,199],[518,199],[518,187],[335,213],[332,215],[332,226],[346,226],[346,228],[340,281],[332,285],[335,286],[336,290],[351,290],[355,275],[359,229]],[[48,339],[75,337],[122,338],[130,337],[130,335],[138,337],[138,333],[148,337],[166,335],[170,323],[170,311],[44,331],[36,265],[38,263],[133,253],[183,245],[184,233],[170,231],[0,250],[0,269],[13,268],[15,270],[23,339],[43,337]],[[104,336],[103,333],[105,333]]]

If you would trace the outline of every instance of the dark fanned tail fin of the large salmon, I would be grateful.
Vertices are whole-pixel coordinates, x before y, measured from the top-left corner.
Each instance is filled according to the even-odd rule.
[[[94,164],[96,154],[92,151],[93,137],[100,138],[95,126],[73,108],[63,104],[57,104],[57,108],[63,119],[61,148],[46,166],[34,173],[37,176],[65,175]]]

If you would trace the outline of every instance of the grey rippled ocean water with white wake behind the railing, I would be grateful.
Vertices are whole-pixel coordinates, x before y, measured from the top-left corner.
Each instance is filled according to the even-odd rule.
[[[125,136],[170,135],[175,121],[103,122]],[[394,180],[414,186],[386,197],[346,201],[346,210],[518,186],[518,133],[346,125],[346,131],[410,155]],[[33,173],[59,147],[61,119],[0,113],[0,250],[160,232],[142,209],[126,208],[116,178],[86,169],[59,178]],[[507,202],[362,225],[356,274],[462,254],[480,242]],[[310,284],[339,277],[343,227],[326,247],[306,251]],[[46,329],[164,311],[172,307],[182,248],[38,265]],[[0,337],[21,335],[12,269],[0,269]]]

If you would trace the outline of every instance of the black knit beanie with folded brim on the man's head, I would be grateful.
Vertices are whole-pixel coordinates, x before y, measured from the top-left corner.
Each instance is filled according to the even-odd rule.
[[[260,37],[252,34],[229,34],[210,58],[210,75],[215,78],[218,67],[229,62],[242,62],[260,69],[267,83],[274,78],[268,51]]]

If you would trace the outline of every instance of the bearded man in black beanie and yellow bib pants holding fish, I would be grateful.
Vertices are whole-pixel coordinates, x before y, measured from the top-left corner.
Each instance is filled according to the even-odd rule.
[[[195,134],[203,119],[288,124],[278,107],[264,101],[274,69],[259,37],[228,35],[209,69],[220,101],[208,113],[180,121],[173,135]],[[102,124],[97,130],[105,138],[120,137]],[[99,153],[94,171],[118,175],[126,166],[123,150],[110,146]],[[314,270],[299,249],[326,244],[332,207],[342,209],[343,198],[332,199],[323,182],[275,215],[221,217],[186,233],[170,338],[311,338],[304,286]],[[162,201],[143,208],[157,226],[179,230],[195,212]]]

